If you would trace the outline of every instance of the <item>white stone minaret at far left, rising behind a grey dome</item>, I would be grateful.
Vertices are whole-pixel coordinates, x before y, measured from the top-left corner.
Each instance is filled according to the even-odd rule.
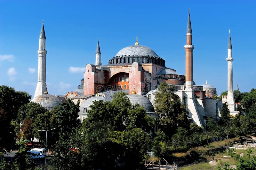
[[[38,53],[38,78],[37,78],[37,85],[36,85],[36,91],[34,97],[38,95],[44,94],[44,91],[46,89],[45,84],[45,60],[46,60],[46,53],[45,50],[45,33],[44,33],[44,21],[41,29],[41,33],[39,36],[39,50]]]

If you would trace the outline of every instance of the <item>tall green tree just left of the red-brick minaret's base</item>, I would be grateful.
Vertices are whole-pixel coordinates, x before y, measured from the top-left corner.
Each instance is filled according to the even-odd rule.
[[[180,105],[180,98],[174,94],[174,88],[166,82],[159,85],[155,95],[155,110],[159,114],[159,127],[168,136],[172,136],[178,126],[189,128],[188,112]]]

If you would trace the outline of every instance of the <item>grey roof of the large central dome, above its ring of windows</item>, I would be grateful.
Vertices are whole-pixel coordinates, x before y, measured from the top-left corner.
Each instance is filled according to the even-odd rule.
[[[143,45],[131,45],[128,47],[123,48],[122,50],[120,50],[116,56],[125,56],[125,55],[134,55],[134,56],[153,56],[153,57],[158,57],[158,55],[156,54],[156,52],[154,50],[152,50],[151,48],[148,48],[146,46]]]

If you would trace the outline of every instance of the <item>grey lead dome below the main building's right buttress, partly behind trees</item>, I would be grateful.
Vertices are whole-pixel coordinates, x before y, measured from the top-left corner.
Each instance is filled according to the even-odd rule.
[[[141,106],[143,106],[146,113],[155,113],[153,105],[146,97],[143,97],[138,94],[127,95],[127,97],[129,97],[130,102],[133,105],[140,104]]]

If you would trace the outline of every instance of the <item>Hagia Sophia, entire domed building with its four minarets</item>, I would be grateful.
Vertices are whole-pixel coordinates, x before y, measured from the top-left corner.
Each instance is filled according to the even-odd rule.
[[[213,99],[217,95],[216,88],[206,81],[203,85],[197,85],[193,81],[193,49],[192,28],[190,14],[188,12],[188,25],[186,32],[187,41],[184,46],[186,56],[186,75],[176,72],[175,69],[165,65],[164,56],[159,57],[149,47],[139,43],[138,37],[134,45],[124,47],[116,55],[101,63],[100,43],[96,48],[95,63],[86,64],[81,83],[74,91],[67,92],[64,96],[48,94],[45,83],[46,53],[44,24],[39,37],[38,50],[38,82],[33,102],[39,103],[48,110],[52,110],[62,101],[68,98],[76,103],[80,100],[80,112],[78,119],[83,121],[93,100],[111,101],[113,95],[123,91],[127,93],[132,104],[140,104],[148,115],[158,118],[154,110],[154,96],[161,82],[167,82],[175,87],[175,94],[180,97],[180,102],[187,106],[188,119],[198,126],[206,126],[206,118],[220,118],[223,106],[221,100]],[[234,112],[233,77],[232,75],[232,46],[229,33],[228,43],[228,107]],[[230,64],[231,62],[231,64]],[[230,68],[231,66],[231,68]],[[232,81],[232,82],[231,82]],[[231,88],[232,86],[232,88]],[[233,95],[233,96],[232,96]],[[232,98],[233,97],[233,98]],[[232,109],[233,108],[233,109]]]

